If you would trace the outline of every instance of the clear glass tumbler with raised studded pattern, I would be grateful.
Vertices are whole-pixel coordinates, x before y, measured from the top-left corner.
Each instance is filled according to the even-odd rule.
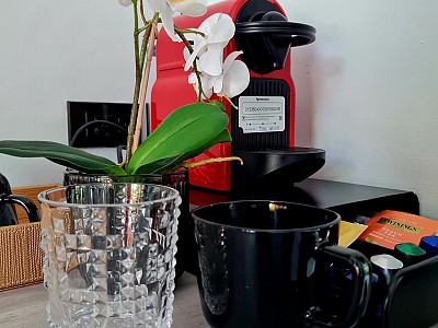
[[[50,327],[170,327],[181,198],[142,183],[38,196]]]

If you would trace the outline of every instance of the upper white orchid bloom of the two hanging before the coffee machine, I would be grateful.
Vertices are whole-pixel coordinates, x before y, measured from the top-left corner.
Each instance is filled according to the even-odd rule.
[[[206,19],[197,31],[204,33],[205,37],[199,37],[199,35],[192,37],[193,52],[188,57],[185,56],[184,69],[188,70],[197,57],[200,71],[219,75],[222,72],[223,48],[235,32],[234,23],[229,15],[216,13]]]

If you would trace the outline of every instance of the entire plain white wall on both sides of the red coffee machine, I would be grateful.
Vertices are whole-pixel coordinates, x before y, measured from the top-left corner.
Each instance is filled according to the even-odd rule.
[[[414,190],[438,219],[438,2],[279,2],[318,30],[292,52],[297,144],[327,153],[315,177]],[[67,142],[67,101],[130,102],[130,31],[116,0],[1,1],[0,139]],[[0,172],[23,186],[62,168],[0,155]]]

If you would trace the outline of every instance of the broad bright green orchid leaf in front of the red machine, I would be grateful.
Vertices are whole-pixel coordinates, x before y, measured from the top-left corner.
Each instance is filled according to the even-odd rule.
[[[227,114],[215,105],[195,103],[180,107],[140,144],[126,171],[128,174],[162,171],[216,143],[228,142],[231,138],[228,131],[224,132],[227,124]],[[157,164],[162,167],[158,168],[160,165]]]

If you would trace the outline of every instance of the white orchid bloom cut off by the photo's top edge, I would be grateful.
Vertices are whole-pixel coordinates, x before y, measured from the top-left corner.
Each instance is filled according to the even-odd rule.
[[[174,13],[180,12],[187,16],[197,17],[207,12],[207,7],[199,0],[148,0],[148,2],[153,11],[160,12],[165,32],[170,38],[176,42],[180,42],[180,37],[174,32],[172,16]]]

